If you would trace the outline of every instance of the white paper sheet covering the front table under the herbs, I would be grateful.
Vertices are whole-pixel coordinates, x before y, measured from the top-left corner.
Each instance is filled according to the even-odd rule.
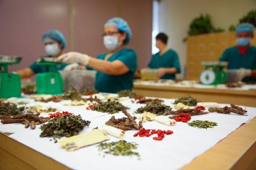
[[[131,107],[130,113],[134,112],[143,104],[133,104],[132,99],[121,101],[125,106]],[[172,105],[174,99],[165,99],[165,104]],[[52,103],[51,103],[52,104]],[[57,104],[54,104],[57,106]],[[221,104],[221,107],[226,104]],[[54,107],[54,106],[52,106]],[[101,128],[106,121],[115,115],[116,118],[125,117],[122,112],[116,114],[105,114],[96,111],[86,110],[85,106],[62,106],[58,103],[64,111],[70,111],[74,114],[81,113],[85,120],[90,120],[89,127],[85,127],[80,133],[87,132],[95,127]],[[10,135],[11,138],[43,153],[46,156],[60,162],[61,164],[70,167],[71,169],[105,169],[105,170],[131,170],[141,169],[179,169],[186,164],[189,164],[194,158],[200,156],[210,147],[225,138],[228,134],[236,130],[241,124],[248,122],[250,119],[256,117],[256,108],[246,107],[248,116],[241,116],[237,114],[219,114],[209,113],[207,115],[192,116],[193,120],[209,120],[218,123],[218,126],[213,128],[198,129],[188,126],[186,123],[177,122],[176,126],[169,127],[160,124],[156,121],[145,122],[143,127],[146,129],[161,129],[172,130],[172,135],[165,135],[162,141],[155,141],[150,137],[134,137],[137,130],[130,130],[125,132],[124,140],[135,142],[138,145],[137,152],[140,153],[140,159],[129,156],[111,156],[105,155],[98,151],[97,145],[84,147],[74,152],[68,152],[60,148],[58,143],[50,141],[51,138],[40,138],[40,126],[35,130],[25,129],[20,124],[0,124],[1,132],[15,132]],[[135,114],[138,116],[138,114]],[[191,122],[189,121],[189,122]],[[118,141],[118,138],[110,136],[111,141]]]

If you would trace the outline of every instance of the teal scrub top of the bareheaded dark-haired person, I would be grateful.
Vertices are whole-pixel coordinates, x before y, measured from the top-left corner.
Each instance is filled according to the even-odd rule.
[[[160,67],[171,68],[175,67],[178,72],[180,72],[180,62],[177,53],[169,49],[162,56],[159,55],[159,52],[152,56],[148,67],[151,69],[158,69]],[[175,79],[175,74],[165,74],[162,77],[163,79]]]

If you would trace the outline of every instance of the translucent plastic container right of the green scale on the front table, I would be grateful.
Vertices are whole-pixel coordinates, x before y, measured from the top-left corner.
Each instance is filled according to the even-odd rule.
[[[59,72],[63,78],[64,91],[70,90],[72,87],[82,91],[86,88],[94,88],[95,86],[96,71],[94,70],[71,70]]]

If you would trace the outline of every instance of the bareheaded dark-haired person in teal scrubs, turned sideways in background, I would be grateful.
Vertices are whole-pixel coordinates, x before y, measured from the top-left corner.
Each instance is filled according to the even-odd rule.
[[[152,56],[148,67],[159,69],[158,76],[162,79],[175,79],[175,74],[180,72],[180,63],[177,53],[169,49],[168,37],[164,33],[156,36],[156,46],[160,50]]]

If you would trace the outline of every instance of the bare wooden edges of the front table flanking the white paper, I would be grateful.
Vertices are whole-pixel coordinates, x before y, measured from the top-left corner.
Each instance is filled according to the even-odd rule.
[[[233,131],[232,133],[230,133],[227,137],[225,137],[224,139],[222,139],[221,141],[219,141],[217,144],[215,144],[213,147],[209,148],[209,150],[207,150],[206,152],[202,153],[200,156],[198,156],[197,158],[195,158],[194,160],[192,160],[189,164],[185,165],[184,167],[182,167],[182,170],[191,170],[191,169],[202,169],[202,168],[207,168],[207,169],[215,169],[213,167],[215,167],[216,164],[221,164],[222,168],[221,169],[232,169],[233,167],[236,166],[236,164],[239,164],[239,161],[246,155],[246,153],[253,147],[256,148],[256,133],[254,133],[256,130],[256,118],[253,118],[252,120],[250,120],[247,124],[244,124],[242,126],[240,126],[239,128],[237,128],[235,131]],[[249,132],[249,133],[248,133]],[[219,155],[218,154],[214,154],[216,152],[216,150],[218,151],[220,149],[220,145],[225,145],[227,143],[229,143],[230,141],[233,140],[233,138],[236,138],[238,136],[244,137],[243,141],[246,139],[247,141],[247,145],[246,146],[242,146],[242,148],[240,148],[239,154],[236,156],[232,156],[232,161],[227,161],[225,160],[225,158],[230,158],[230,148],[229,147],[224,147],[225,150],[223,150],[223,152],[227,152],[227,154],[221,158],[218,158]],[[1,141],[8,141],[7,144],[4,145],[3,147],[3,142]],[[58,169],[67,169],[69,170],[68,167],[64,166],[63,164],[59,163],[58,161],[55,161],[52,158],[49,158],[48,156],[45,156],[42,153],[39,153],[38,151],[24,145],[21,144],[20,142],[10,138],[9,136],[5,135],[4,133],[0,132],[0,143],[2,143],[2,145],[0,145],[0,147],[3,150],[6,150],[7,152],[11,153],[13,156],[20,158],[22,161],[26,162],[27,164],[31,165],[32,167],[35,167],[36,169],[44,169],[47,167],[41,167],[38,166],[38,164],[34,161],[32,161],[31,158],[27,158],[26,156],[20,155],[18,150],[12,149],[12,146],[9,146],[9,144],[11,143],[11,145],[16,145],[16,147],[20,148],[21,150],[26,150],[26,152],[29,153],[30,157],[32,156],[33,158],[39,156],[39,160],[41,162],[47,162],[48,166],[47,167],[54,167],[56,170]],[[232,147],[232,146],[230,146]],[[34,155],[36,154],[36,155]],[[213,154],[213,155],[212,155]],[[209,156],[211,158],[209,158]],[[251,155],[250,155],[251,156]],[[216,162],[216,159],[219,161]],[[253,158],[253,160],[256,160],[256,157]],[[236,168],[237,169],[237,168]]]

